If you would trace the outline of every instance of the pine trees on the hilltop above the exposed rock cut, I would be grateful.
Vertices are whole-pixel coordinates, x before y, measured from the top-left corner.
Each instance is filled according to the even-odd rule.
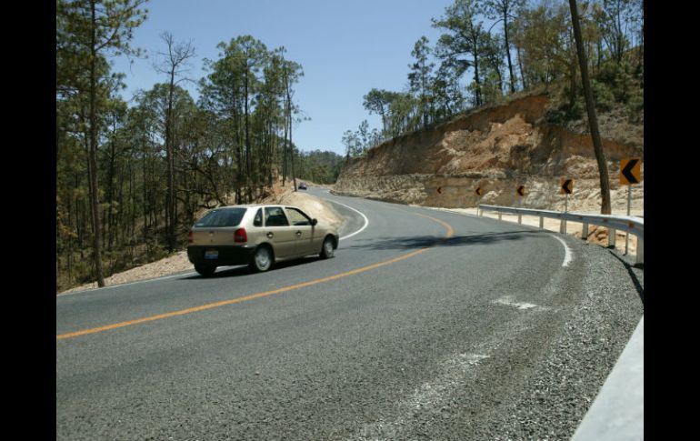
[[[644,108],[644,4],[642,0],[578,2],[595,105],[622,105],[630,120]],[[421,36],[411,49],[403,91],[372,88],[364,96],[370,115],[345,131],[346,157],[445,121],[480,105],[536,88],[556,91],[553,122],[585,114],[569,4],[556,0],[455,0],[432,19],[442,34],[431,45]]]

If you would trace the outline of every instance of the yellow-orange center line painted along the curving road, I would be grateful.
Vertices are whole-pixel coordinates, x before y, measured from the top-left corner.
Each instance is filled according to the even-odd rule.
[[[420,215],[417,213],[414,213],[414,214]],[[434,220],[438,224],[445,226],[447,232],[445,234],[445,237],[443,237],[442,240],[445,240],[448,237],[452,237],[455,234],[455,230],[452,228],[452,226],[450,226],[446,222],[443,222],[440,219],[435,219],[435,217],[431,217],[429,215],[420,215],[420,216],[427,217],[428,219]],[[300,284],[296,284],[296,285],[292,285],[292,286],[285,286],[282,288],[273,289],[271,291],[265,291],[263,293],[251,294],[250,296],[236,297],[236,298],[231,299],[231,300],[223,300],[221,302],[209,303],[209,304],[202,305],[202,306],[195,306],[195,307],[180,309],[178,311],[173,311],[173,312],[165,313],[165,314],[158,314],[156,316],[147,316],[147,317],[142,317],[142,318],[136,318],[135,320],[128,320],[125,322],[119,322],[119,323],[115,323],[113,325],[93,327],[90,329],[83,329],[82,331],[69,332],[66,334],[58,334],[58,335],[56,335],[56,340],[65,340],[66,338],[72,338],[75,336],[85,336],[88,334],[95,334],[98,332],[109,331],[111,329],[118,329],[120,327],[133,326],[133,325],[138,325],[138,324],[146,323],[146,322],[153,322],[155,320],[161,320],[163,318],[169,318],[169,317],[175,317],[175,316],[185,316],[186,314],[192,314],[192,313],[196,313],[196,312],[200,312],[200,311],[206,311],[207,309],[213,309],[213,308],[219,307],[219,306],[234,305],[236,303],[246,302],[248,300],[254,300],[256,298],[261,298],[261,297],[266,297],[266,296],[274,296],[275,294],[285,293],[286,291],[292,291],[293,289],[299,289],[299,288],[304,288],[306,286],[318,285],[318,284],[330,282],[331,280],[339,279],[342,277],[353,276],[355,274],[364,273],[365,271],[370,271],[372,269],[379,268],[381,266],[395,264],[396,262],[400,262],[400,261],[405,260],[409,257],[417,256],[417,255],[427,251],[430,247],[431,246],[426,246],[425,248],[421,248],[421,249],[412,251],[411,253],[405,254],[403,256],[398,256],[398,257],[395,257],[395,258],[390,259],[390,260],[385,260],[384,262],[379,262],[379,263],[374,264],[374,265],[362,266],[362,267],[353,269],[351,271],[346,271],[345,273],[336,274],[335,276],[328,276],[328,277],[323,277],[323,278],[319,278],[319,279],[315,279],[315,280],[310,280],[308,282],[304,282],[304,283],[300,283]]]

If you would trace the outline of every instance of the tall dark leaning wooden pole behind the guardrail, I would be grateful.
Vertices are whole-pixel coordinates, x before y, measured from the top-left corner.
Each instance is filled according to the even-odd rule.
[[[602,205],[600,212],[603,215],[611,213],[610,204],[610,180],[607,174],[607,160],[603,150],[603,142],[598,133],[598,120],[595,115],[595,105],[593,102],[593,93],[591,91],[590,78],[588,77],[588,65],[585,61],[584,42],[581,36],[581,26],[578,22],[578,9],[576,0],[569,0],[571,8],[571,21],[574,25],[574,36],[576,40],[576,52],[578,53],[578,64],[581,66],[581,81],[584,84],[585,108],[588,112],[588,123],[591,127],[591,137],[593,138],[593,146],[595,149],[595,159],[598,162],[598,171],[600,172],[600,195],[602,197]]]

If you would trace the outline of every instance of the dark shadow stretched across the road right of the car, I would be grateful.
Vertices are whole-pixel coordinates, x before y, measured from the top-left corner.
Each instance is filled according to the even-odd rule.
[[[399,236],[365,239],[366,243],[348,246],[346,249],[391,250],[416,249],[430,246],[471,246],[491,245],[499,242],[522,240],[526,237],[542,237],[550,232],[545,231],[508,231],[505,233],[485,233],[469,236],[438,237],[438,236]],[[345,248],[345,247],[344,247]]]

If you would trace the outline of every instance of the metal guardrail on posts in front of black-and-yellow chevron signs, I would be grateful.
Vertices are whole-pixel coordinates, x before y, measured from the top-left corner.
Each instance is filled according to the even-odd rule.
[[[533,215],[540,218],[540,228],[544,228],[544,219],[559,219],[561,226],[560,233],[566,233],[566,221],[583,224],[581,238],[587,240],[588,226],[605,226],[608,228],[607,245],[615,246],[615,230],[627,232],[627,234],[637,237],[636,265],[644,265],[644,218],[629,215],[591,215],[587,213],[561,212],[552,210],[535,210],[531,208],[515,208],[512,206],[499,205],[478,205],[477,213],[484,215],[485,211],[498,213],[498,220],[501,215],[517,215],[518,224],[522,224],[523,215]]]

